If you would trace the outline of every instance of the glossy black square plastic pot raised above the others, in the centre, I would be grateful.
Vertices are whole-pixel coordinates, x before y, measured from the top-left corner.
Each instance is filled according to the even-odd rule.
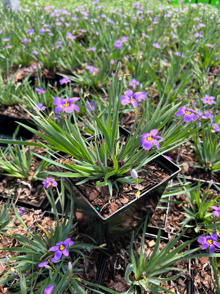
[[[120,135],[127,137],[128,134],[127,130],[120,127]],[[66,155],[62,152],[58,154],[60,157],[65,157]],[[55,160],[57,156],[56,153],[56,156],[50,156],[50,158]],[[155,161],[159,167],[162,167],[169,174],[169,177],[143,190],[139,198],[134,197],[131,202],[125,204],[108,217],[101,216],[95,207],[90,204],[84,192],[80,189],[80,185],[75,185],[73,178],[66,178],[64,187],[68,197],[74,198],[76,220],[82,232],[93,237],[98,243],[109,243],[114,235],[119,236],[140,226],[146,216],[150,220],[167,184],[181,170],[163,155],[159,155]],[[55,165],[55,167],[62,172],[58,166]],[[80,218],[77,217],[79,215]]]

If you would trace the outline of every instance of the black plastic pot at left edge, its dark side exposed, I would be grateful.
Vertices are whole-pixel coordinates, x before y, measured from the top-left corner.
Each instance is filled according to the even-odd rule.
[[[8,115],[0,114],[0,138],[1,139],[13,139],[13,134],[18,126],[18,123],[23,123],[26,126],[37,129],[37,126],[32,123],[30,119],[24,119],[19,117],[10,117]],[[18,133],[16,135],[15,140],[20,140],[22,138],[23,141],[31,139],[33,137],[33,133],[27,130],[25,127],[20,126]],[[7,144],[0,143],[0,147],[6,147]]]

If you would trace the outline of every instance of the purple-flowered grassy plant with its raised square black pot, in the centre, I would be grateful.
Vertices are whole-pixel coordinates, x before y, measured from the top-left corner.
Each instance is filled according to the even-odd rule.
[[[56,97],[53,100],[51,96],[53,104],[57,105],[55,113],[60,113],[63,119],[64,125],[62,128],[57,126],[56,122],[50,119],[52,114],[45,117],[41,112],[38,112],[38,117],[35,117],[35,115],[31,113],[30,115],[35,120],[36,125],[43,130],[43,133],[27,127],[28,130],[32,130],[40,138],[49,143],[48,145],[44,145],[40,142],[30,142],[29,144],[46,147],[47,152],[53,155],[53,157],[51,157],[51,159],[45,158],[45,160],[62,168],[62,171],[64,171],[62,173],[60,171],[51,172],[50,174],[64,178],[75,178],[71,180],[74,188],[68,188],[67,182],[66,187],[68,190],[74,189],[74,197],[77,200],[77,205],[81,206],[84,213],[86,213],[89,219],[88,224],[94,224],[97,227],[96,231],[93,231],[93,228],[91,228],[90,234],[94,236],[96,234],[95,232],[98,232],[99,235],[96,237],[99,241],[103,241],[103,239],[109,240],[109,236],[112,233],[122,233],[121,227],[123,231],[133,229],[134,226],[138,226],[141,223],[147,214],[149,214],[149,218],[152,216],[167,183],[180,170],[162,154],[173,149],[176,143],[182,144],[187,141],[190,135],[197,130],[192,130],[192,125],[194,126],[197,122],[196,119],[194,120],[194,116],[192,116],[193,123],[191,124],[191,120],[188,120],[188,126],[182,127],[181,124],[173,124],[175,136],[173,135],[174,130],[173,132],[170,130],[167,138],[157,136],[158,131],[163,129],[166,123],[170,121],[181,103],[170,107],[170,109],[164,113],[162,96],[152,118],[148,122],[145,122],[145,115],[140,115],[140,107],[138,107],[138,104],[141,104],[141,100],[146,99],[145,95],[142,92],[133,94],[131,90],[125,91],[125,95],[122,95],[124,74],[120,74],[120,68],[121,63],[119,62],[115,77],[114,75],[112,76],[109,103],[105,111],[98,114],[90,107],[94,116],[94,138],[90,138],[90,140],[85,139],[78,127],[78,121],[74,110],[79,112],[80,109],[73,103],[79,100],[78,97],[70,99],[60,99]],[[119,85],[119,78],[122,79],[121,85]],[[121,105],[127,105],[129,103],[132,104],[135,110],[134,125],[130,134],[123,134],[123,129],[119,128],[119,112],[121,111]],[[168,107],[166,106],[166,108]],[[68,118],[66,117],[66,112],[68,113]],[[179,110],[178,115],[182,114],[183,113]],[[74,124],[71,123],[71,121],[73,121]],[[12,142],[6,140],[0,140],[0,142],[1,141],[7,143]],[[160,141],[163,141],[162,146],[160,146]],[[22,141],[13,141],[13,143],[24,144]],[[42,156],[38,156],[42,158]],[[156,180],[156,182],[149,187],[146,181],[146,175],[148,175],[149,171],[152,169],[152,175],[156,174],[155,168],[152,167],[152,165],[155,165],[155,162],[152,160],[156,161],[160,171],[164,170],[167,174],[163,177],[159,172],[162,176],[160,184],[158,184]],[[151,162],[151,164],[147,165],[149,162]],[[85,185],[87,184],[89,186],[93,185],[92,189],[96,189],[99,192],[101,195],[98,195],[99,198],[101,197],[100,203],[103,202],[101,204],[107,205],[107,203],[110,203],[108,216],[101,216],[100,212],[103,206],[94,208],[88,201],[84,201],[80,190],[77,193],[75,192],[75,185],[78,187],[84,186],[85,194]],[[136,190],[133,189],[133,186]],[[127,204],[117,209],[116,200],[118,195],[121,195],[121,187],[122,189],[124,187],[127,188],[127,192],[121,196],[125,204],[126,202]],[[131,199],[127,197],[129,193],[132,193]],[[149,199],[149,204],[146,204],[147,198]],[[83,205],[79,204],[82,202],[79,199],[83,199]],[[127,216],[125,220],[123,216],[126,215],[127,208],[129,216]],[[135,218],[135,222],[132,220],[132,217]],[[129,224],[126,224],[128,219]]]

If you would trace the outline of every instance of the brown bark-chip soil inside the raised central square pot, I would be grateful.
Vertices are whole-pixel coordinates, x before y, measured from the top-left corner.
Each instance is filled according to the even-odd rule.
[[[71,156],[61,159],[61,162],[71,164],[71,160],[69,158],[71,158]],[[57,161],[60,162],[60,159]],[[123,162],[118,162],[118,164],[119,167],[123,166]],[[169,177],[169,174],[154,160],[144,165],[142,168],[143,170],[138,172],[139,179],[143,179],[143,181],[139,184],[141,192],[144,191],[144,189],[150,188],[153,184],[160,183]],[[69,170],[65,170],[65,168],[61,169],[62,171],[69,172]],[[130,175],[130,173],[127,175]],[[82,179],[83,178],[74,178],[74,182],[79,183]],[[119,191],[113,187],[112,197],[110,197],[108,186],[98,187],[94,180],[90,180],[79,185],[78,187],[83,191],[84,196],[103,217],[108,217],[123,205],[134,200],[138,192],[137,185],[131,186],[127,183],[118,183]]]

